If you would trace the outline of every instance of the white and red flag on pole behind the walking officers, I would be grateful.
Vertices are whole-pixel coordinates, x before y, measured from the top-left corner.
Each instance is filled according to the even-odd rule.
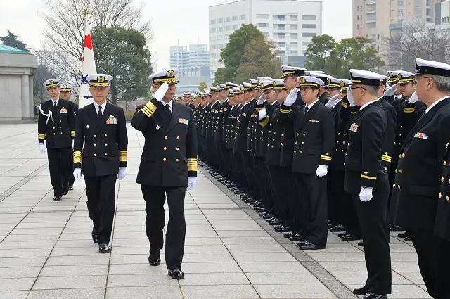
[[[96,74],[96,62],[94,60],[94,50],[92,49],[91,30],[87,24],[87,15],[84,17],[84,51],[83,51],[83,65],[82,65],[82,81],[79,87],[79,108],[83,108],[94,102],[91,91],[89,91],[89,82],[87,76]]]

